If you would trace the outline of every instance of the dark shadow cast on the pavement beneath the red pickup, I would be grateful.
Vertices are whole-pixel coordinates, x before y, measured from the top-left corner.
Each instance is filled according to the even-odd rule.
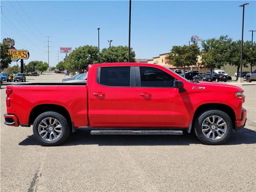
[[[255,144],[256,132],[242,128],[230,136],[224,145]],[[75,145],[99,145],[99,146],[179,146],[190,144],[202,144],[194,133],[185,135],[91,135],[90,131],[77,129],[71,133],[68,139],[60,146]],[[33,135],[28,136],[19,143],[21,146],[41,145]]]

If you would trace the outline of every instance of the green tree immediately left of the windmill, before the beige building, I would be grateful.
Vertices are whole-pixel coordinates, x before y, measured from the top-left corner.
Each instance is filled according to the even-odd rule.
[[[197,44],[190,46],[173,46],[171,53],[166,56],[169,59],[168,64],[173,66],[183,68],[186,70],[186,67],[190,65],[196,65],[198,55],[200,54],[200,49]]]

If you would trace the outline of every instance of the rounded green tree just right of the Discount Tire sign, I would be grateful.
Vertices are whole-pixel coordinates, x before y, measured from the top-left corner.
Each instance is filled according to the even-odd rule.
[[[70,71],[83,72],[89,64],[98,62],[98,47],[85,45],[76,48],[69,54],[64,66]]]

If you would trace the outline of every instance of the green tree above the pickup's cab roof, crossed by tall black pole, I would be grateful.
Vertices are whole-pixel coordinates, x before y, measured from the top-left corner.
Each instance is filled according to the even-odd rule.
[[[103,48],[99,56],[100,63],[128,62],[127,46],[112,46]],[[130,52],[130,62],[135,62],[135,52]]]

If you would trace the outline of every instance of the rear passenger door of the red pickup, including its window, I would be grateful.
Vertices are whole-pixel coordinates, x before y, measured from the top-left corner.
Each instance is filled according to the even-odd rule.
[[[136,125],[136,87],[131,87],[131,67],[111,66],[94,68],[91,80],[89,121],[90,126],[128,127]],[[134,67],[132,67],[134,70]],[[132,73],[135,81],[135,74]]]

